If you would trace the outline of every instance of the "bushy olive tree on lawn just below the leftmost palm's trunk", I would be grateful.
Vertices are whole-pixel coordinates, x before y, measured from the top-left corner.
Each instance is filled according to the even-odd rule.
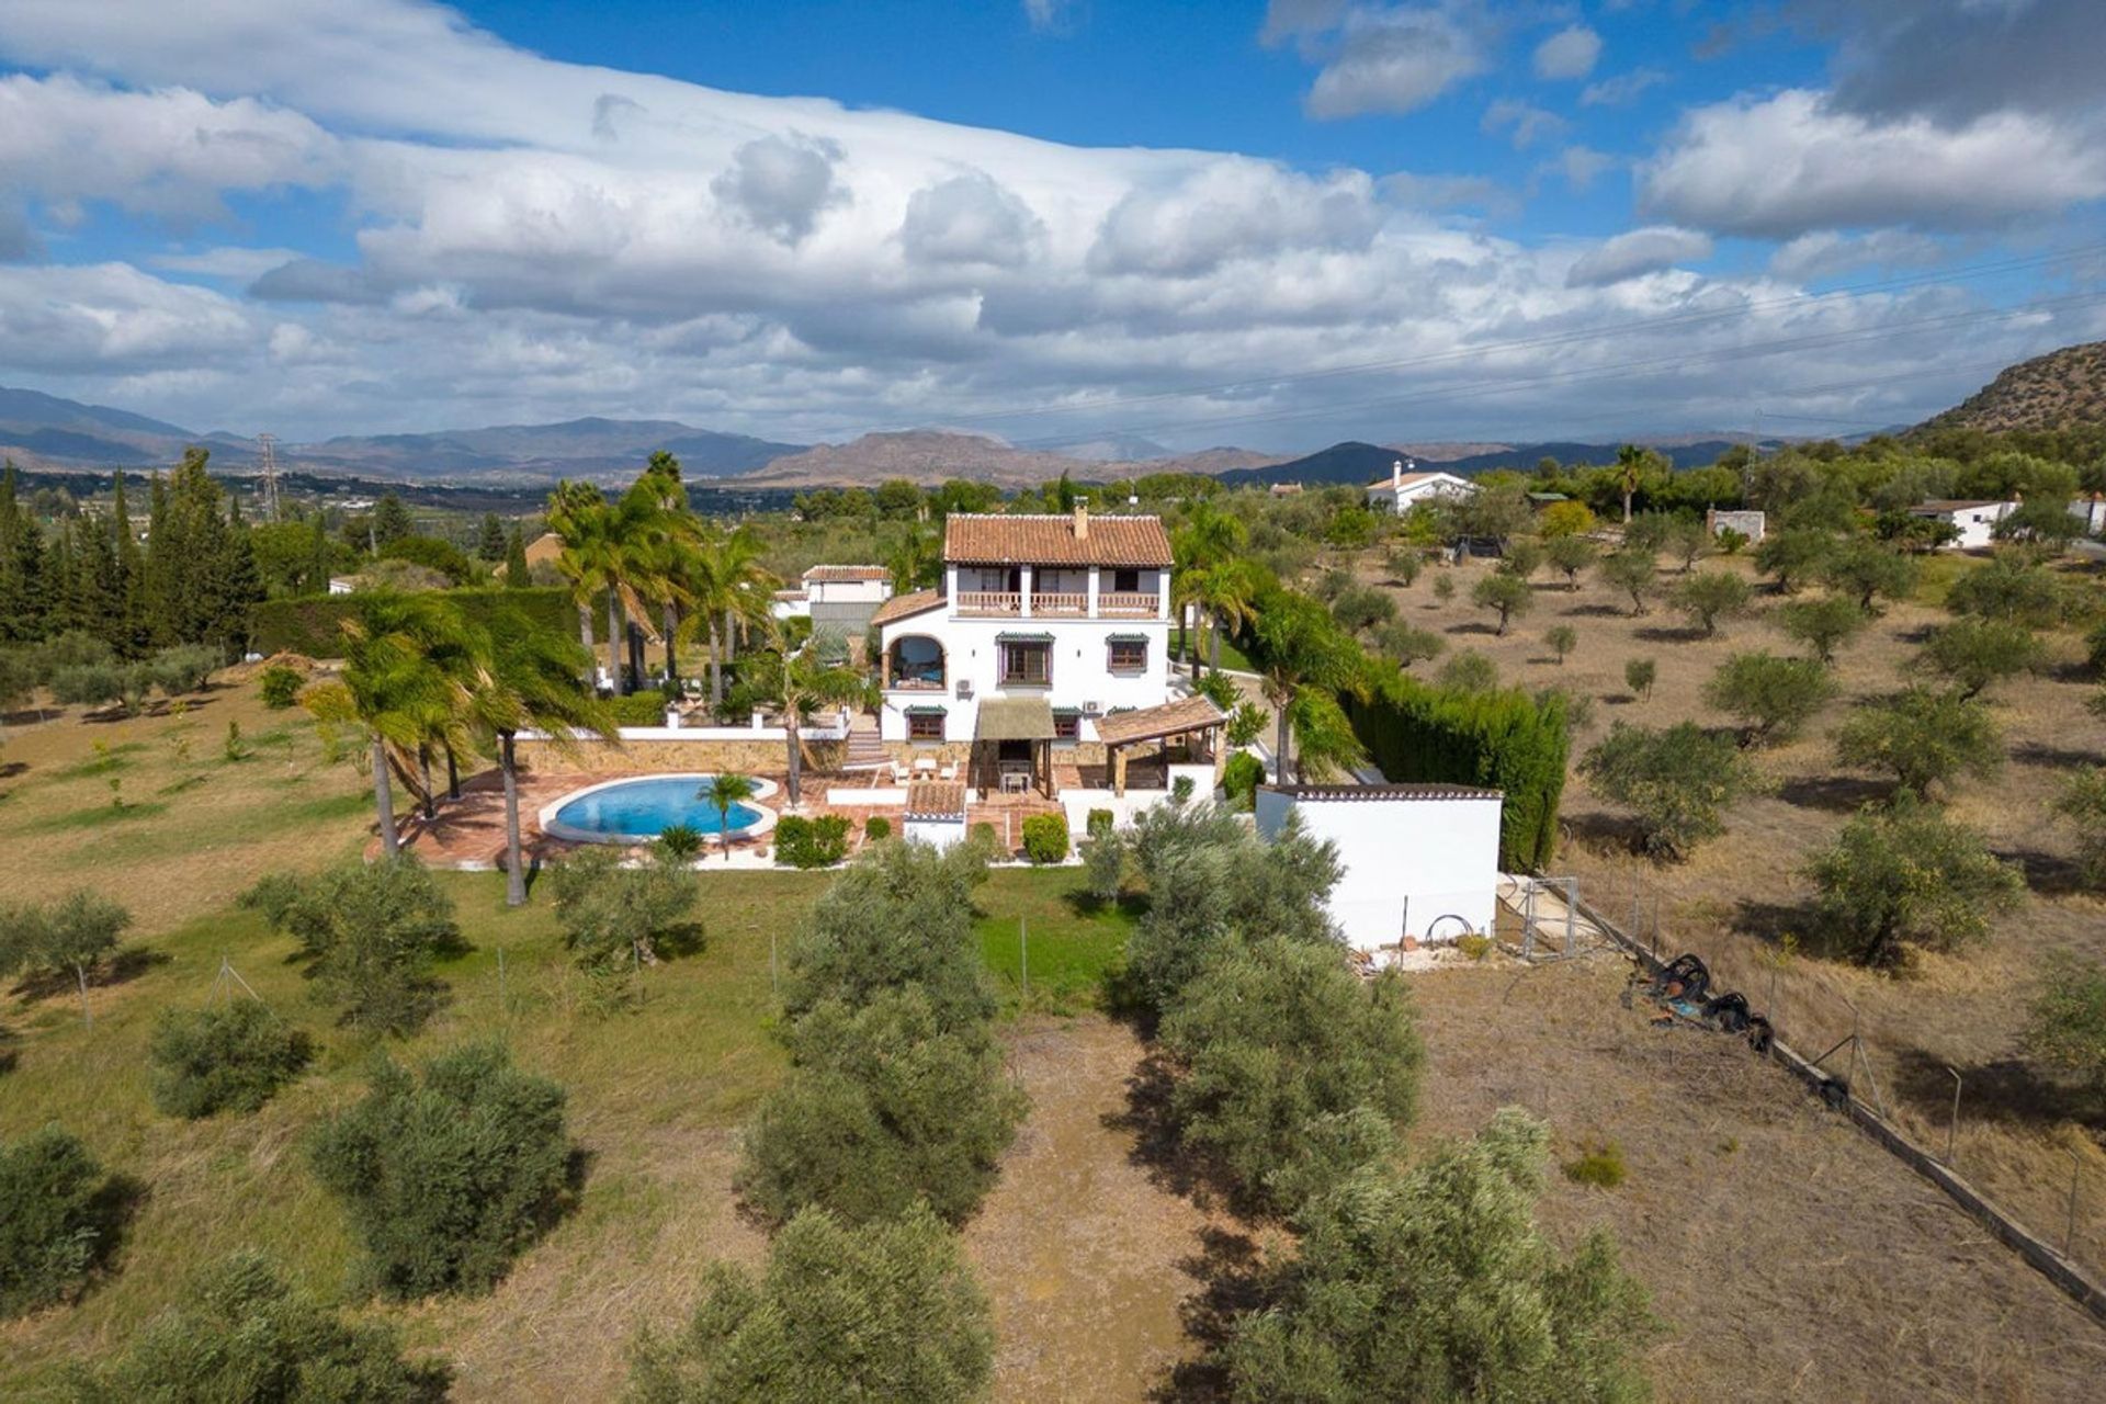
[[[406,1036],[438,1008],[444,985],[432,962],[463,947],[453,899],[423,863],[350,861],[312,878],[265,878],[242,903],[299,941],[316,991],[339,1023]]]

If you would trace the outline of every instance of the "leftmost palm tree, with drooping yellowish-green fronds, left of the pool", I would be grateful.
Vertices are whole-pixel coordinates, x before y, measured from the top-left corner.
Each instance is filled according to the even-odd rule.
[[[402,846],[390,768],[417,789],[411,760],[428,758],[434,743],[468,751],[472,699],[486,680],[476,636],[459,608],[440,596],[375,591],[362,596],[358,613],[343,621],[341,680],[307,688],[301,697],[318,720],[366,730],[381,853],[390,859]],[[430,798],[430,777],[423,777],[423,789]]]

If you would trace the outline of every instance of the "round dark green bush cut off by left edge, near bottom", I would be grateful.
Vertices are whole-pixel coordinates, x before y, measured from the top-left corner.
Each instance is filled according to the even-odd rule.
[[[74,1297],[114,1246],[118,1208],[116,1183],[65,1130],[0,1143],[0,1320]]]

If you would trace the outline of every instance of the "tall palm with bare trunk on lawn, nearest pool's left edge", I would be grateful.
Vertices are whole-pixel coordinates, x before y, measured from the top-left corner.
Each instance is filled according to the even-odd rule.
[[[579,686],[592,653],[550,634],[518,613],[503,613],[491,631],[489,682],[476,690],[476,728],[497,739],[497,770],[505,781],[505,905],[526,903],[526,859],[520,850],[520,777],[516,741],[537,730],[562,754],[577,751],[577,733],[615,741],[607,705]]]

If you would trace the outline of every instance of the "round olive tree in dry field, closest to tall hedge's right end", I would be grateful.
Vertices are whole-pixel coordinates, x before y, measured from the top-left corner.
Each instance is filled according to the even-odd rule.
[[[1695,722],[1666,730],[1617,722],[1580,762],[1594,791],[1630,808],[1647,853],[1689,857],[1725,834],[1721,810],[1756,787],[1754,766]]]

